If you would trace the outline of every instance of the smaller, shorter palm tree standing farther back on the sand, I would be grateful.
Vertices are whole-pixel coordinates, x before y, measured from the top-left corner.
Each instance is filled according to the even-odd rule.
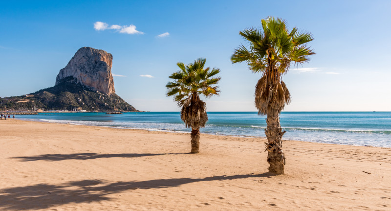
[[[206,114],[206,103],[200,100],[199,95],[209,98],[220,92],[216,85],[221,79],[213,77],[220,72],[218,68],[212,70],[208,67],[204,69],[206,59],[199,58],[194,63],[184,65],[182,62],[176,63],[180,70],[169,76],[174,82],[168,82],[166,95],[174,96],[179,107],[180,118],[186,127],[192,128],[191,143],[192,153],[199,152],[199,129],[205,127],[208,121]]]

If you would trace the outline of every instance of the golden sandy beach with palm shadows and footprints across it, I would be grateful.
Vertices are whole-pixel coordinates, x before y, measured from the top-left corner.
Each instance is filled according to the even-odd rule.
[[[201,130],[202,132],[202,130]],[[0,120],[0,211],[391,209],[391,149]],[[374,140],[375,141],[375,140]]]

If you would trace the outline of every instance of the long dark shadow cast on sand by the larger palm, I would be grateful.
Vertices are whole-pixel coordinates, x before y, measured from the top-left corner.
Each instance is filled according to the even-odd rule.
[[[109,194],[137,188],[172,188],[184,184],[245,178],[270,177],[275,174],[242,174],[205,178],[173,178],[148,181],[109,183],[104,180],[81,180],[60,185],[38,184],[33,186],[0,189],[0,210],[39,210],[69,203],[89,203],[110,200]]]

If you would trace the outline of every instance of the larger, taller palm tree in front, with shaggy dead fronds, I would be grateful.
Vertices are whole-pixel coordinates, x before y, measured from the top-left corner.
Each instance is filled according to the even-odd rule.
[[[243,45],[234,50],[232,63],[246,62],[254,73],[262,77],[255,86],[255,106],[258,115],[266,115],[267,127],[265,142],[268,152],[269,171],[284,173],[285,156],[282,152],[282,131],[280,113],[285,104],[290,102],[290,94],[282,81],[292,63],[295,65],[308,61],[308,56],[315,54],[307,43],[313,40],[309,32],[299,31],[294,27],[288,31],[285,20],[268,17],[261,21],[262,27],[249,28],[239,32],[246,39],[249,47]]]

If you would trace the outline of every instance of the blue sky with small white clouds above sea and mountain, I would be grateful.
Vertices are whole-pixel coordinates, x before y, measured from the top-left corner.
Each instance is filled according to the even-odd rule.
[[[0,96],[53,86],[87,46],[113,55],[112,72],[125,76],[114,76],[116,93],[139,110],[179,111],[165,96],[168,75],[205,57],[222,77],[208,111],[256,111],[260,75],[230,56],[246,44],[240,30],[276,16],[311,32],[317,53],[284,75],[285,111],[390,111],[390,9],[389,0],[3,1]]]

